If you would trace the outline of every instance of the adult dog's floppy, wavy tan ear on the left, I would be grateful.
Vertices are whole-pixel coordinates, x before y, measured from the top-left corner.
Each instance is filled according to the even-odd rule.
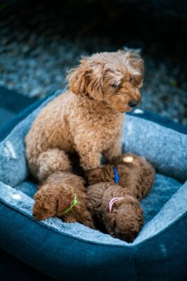
[[[67,75],[69,87],[80,96],[89,95],[94,100],[102,100],[103,65],[92,58],[83,58],[81,64]]]

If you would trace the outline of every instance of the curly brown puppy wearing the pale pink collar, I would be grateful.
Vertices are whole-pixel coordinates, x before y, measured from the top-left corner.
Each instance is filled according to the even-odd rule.
[[[123,200],[114,203],[110,213],[109,202],[113,197],[123,197]],[[113,183],[88,186],[88,209],[110,235],[127,242],[134,240],[143,224],[143,211],[137,198]]]

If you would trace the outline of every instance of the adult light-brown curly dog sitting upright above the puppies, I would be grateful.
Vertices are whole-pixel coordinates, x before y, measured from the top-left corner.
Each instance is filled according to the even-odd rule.
[[[48,103],[26,136],[32,174],[42,181],[69,171],[67,154],[78,152],[84,170],[121,155],[123,112],[139,103],[143,60],[132,51],[83,58],[67,77],[69,91]]]

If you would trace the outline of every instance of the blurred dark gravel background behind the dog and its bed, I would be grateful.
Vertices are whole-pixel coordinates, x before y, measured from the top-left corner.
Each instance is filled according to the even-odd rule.
[[[40,98],[66,85],[81,55],[141,48],[139,107],[187,125],[186,1],[0,3],[0,86]]]

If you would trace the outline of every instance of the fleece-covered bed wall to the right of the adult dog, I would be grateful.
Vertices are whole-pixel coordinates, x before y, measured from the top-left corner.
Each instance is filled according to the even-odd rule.
[[[127,115],[123,128],[126,152],[145,156],[160,174],[187,180],[187,135],[146,119]]]

